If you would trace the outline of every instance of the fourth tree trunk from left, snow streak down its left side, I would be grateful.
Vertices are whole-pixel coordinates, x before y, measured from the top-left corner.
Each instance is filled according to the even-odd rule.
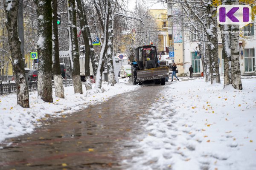
[[[79,67],[79,48],[76,30],[76,6],[75,0],[67,0],[69,55],[72,70],[74,92],[83,94]]]

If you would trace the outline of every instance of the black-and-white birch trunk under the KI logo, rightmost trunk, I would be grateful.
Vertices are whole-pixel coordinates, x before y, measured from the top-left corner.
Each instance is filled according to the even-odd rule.
[[[239,5],[239,0],[231,0],[231,5]],[[231,26],[231,79],[235,89],[242,90],[241,71],[239,62],[239,25]],[[237,33],[236,33],[237,32]]]

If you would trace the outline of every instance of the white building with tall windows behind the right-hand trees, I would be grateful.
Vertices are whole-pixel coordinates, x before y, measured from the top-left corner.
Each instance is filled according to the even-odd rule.
[[[243,39],[240,40],[240,68],[241,68],[241,75],[256,75],[255,72],[255,48],[256,48],[256,35],[255,32],[255,23],[249,24],[248,26],[244,27],[244,31],[250,31],[249,34],[244,34]],[[184,71],[180,72],[179,74],[185,73],[189,74],[189,67],[192,65],[194,68],[195,76],[201,76],[201,72],[203,72],[203,66],[201,62],[201,58],[198,55],[196,56],[195,51],[199,51],[198,47],[198,37],[191,34],[188,31],[183,31],[183,68]],[[174,44],[174,51],[175,51],[175,44]],[[179,47],[178,47],[179,48]],[[220,74],[224,75],[224,59],[223,59],[223,46],[221,41],[221,36],[218,35],[218,56],[219,56],[219,71]],[[175,62],[178,62],[175,60]],[[180,69],[183,70],[183,69]]]

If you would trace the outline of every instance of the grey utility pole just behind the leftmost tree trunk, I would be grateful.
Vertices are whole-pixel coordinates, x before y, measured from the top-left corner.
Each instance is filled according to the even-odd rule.
[[[18,35],[21,41],[20,51],[22,54],[22,59],[24,61],[24,67],[26,67],[25,55],[24,55],[23,0],[19,0],[17,25],[18,25]]]

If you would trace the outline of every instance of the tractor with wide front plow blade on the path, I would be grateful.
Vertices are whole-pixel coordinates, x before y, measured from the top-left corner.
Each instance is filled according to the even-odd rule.
[[[136,49],[135,61],[131,63],[131,80],[133,85],[143,85],[144,81],[154,80],[155,84],[165,85],[169,77],[169,68],[160,67],[157,48],[154,45],[143,45]]]

